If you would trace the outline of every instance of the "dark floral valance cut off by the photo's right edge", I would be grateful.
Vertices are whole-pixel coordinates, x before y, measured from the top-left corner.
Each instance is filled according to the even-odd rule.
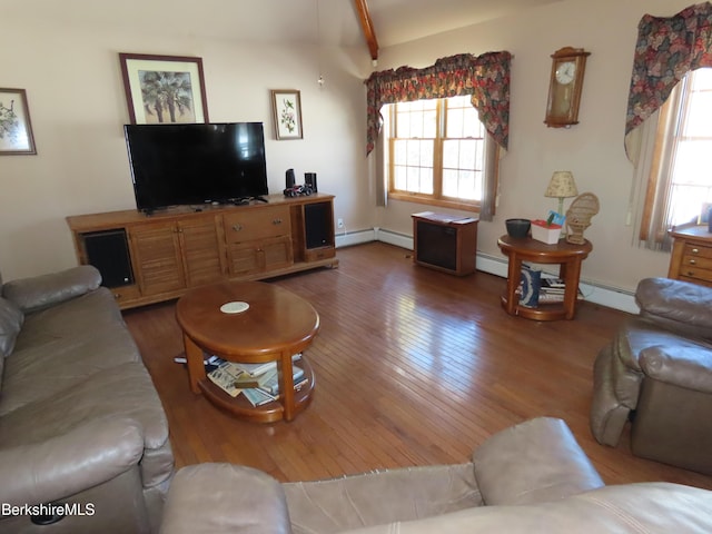
[[[645,14],[639,24],[625,118],[626,136],[659,109],[691,70],[712,67],[712,3],[674,17]]]

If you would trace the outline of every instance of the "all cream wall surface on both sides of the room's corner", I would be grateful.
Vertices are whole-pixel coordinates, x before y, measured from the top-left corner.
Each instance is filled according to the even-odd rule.
[[[626,226],[632,166],[623,129],[637,23],[646,13],[671,16],[690,0],[565,0],[408,44],[383,49],[382,70],[425,67],[437,58],[508,50],[512,66],[511,145],[502,160],[502,195],[493,222],[481,222],[478,248],[503,258],[496,239],[508,217],[536,218],[556,207],[544,198],[551,174],[574,172],[578,190],[601,200],[586,237],[594,251],[586,281],[630,291],[640,278],[664,276],[669,255],[632,245]],[[543,123],[550,56],[564,46],[592,52],[586,65],[581,123]],[[0,271],[6,279],[76,264],[65,217],[135,208],[121,126],[128,120],[118,52],[198,56],[204,60],[214,121],[260,120],[267,131],[271,192],[289,167],[318,174],[319,190],[336,195],[335,216],[346,230],[374,226],[412,235],[411,214],[423,205],[375,208],[373,158],[365,155],[365,88],[373,70],[367,50],[322,52],[264,47],[195,36],[159,38],[118,28],[53,28],[2,20],[2,87],[23,88],[37,156],[0,156]],[[276,141],[269,89],[299,89],[304,140]],[[566,205],[568,201],[566,201]]]

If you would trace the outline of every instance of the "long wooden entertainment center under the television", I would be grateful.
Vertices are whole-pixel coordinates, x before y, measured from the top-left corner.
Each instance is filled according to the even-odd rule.
[[[122,309],[177,298],[206,284],[338,266],[334,196],[265,198],[154,215],[78,215],[67,222],[79,263],[102,271]]]

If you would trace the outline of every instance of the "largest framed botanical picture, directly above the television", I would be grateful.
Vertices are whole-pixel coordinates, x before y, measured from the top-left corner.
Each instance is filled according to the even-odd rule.
[[[119,53],[132,125],[208,122],[202,59]]]

